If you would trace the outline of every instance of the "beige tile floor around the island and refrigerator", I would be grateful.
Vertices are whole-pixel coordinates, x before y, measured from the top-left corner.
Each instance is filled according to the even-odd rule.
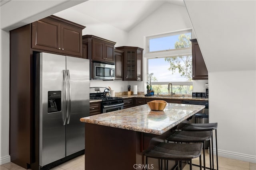
[[[199,163],[199,159],[193,159],[193,163]],[[215,161],[216,162],[216,158]],[[241,160],[229,159],[218,156],[219,170],[256,170],[256,164],[250,162],[244,162]],[[216,163],[215,163],[216,164]],[[209,166],[209,156],[206,153],[206,166]],[[216,169],[216,166],[214,167]],[[193,170],[199,170],[197,166],[192,167]],[[24,168],[9,162],[0,165],[0,170],[25,170]],[[60,164],[59,166],[52,168],[52,170],[84,170],[84,155],[78,156],[68,162]],[[186,165],[183,170],[189,170],[189,165]]]

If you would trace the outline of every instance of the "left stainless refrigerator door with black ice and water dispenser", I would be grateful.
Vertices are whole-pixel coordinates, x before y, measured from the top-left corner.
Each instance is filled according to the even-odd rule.
[[[63,70],[66,69],[66,57],[49,53],[39,53],[38,55],[39,58],[37,59],[40,60],[39,166],[45,166],[65,157],[66,126],[63,125],[65,119]],[[51,103],[55,102],[54,100],[48,102],[48,94],[54,95],[53,91],[61,93],[61,110],[48,113],[48,107],[51,107],[53,105]]]

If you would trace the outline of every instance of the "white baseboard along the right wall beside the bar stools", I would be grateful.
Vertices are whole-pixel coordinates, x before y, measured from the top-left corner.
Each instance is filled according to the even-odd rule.
[[[214,151],[214,154],[216,154],[216,149],[213,149],[213,151]],[[238,152],[230,152],[228,150],[218,149],[218,156],[256,163],[256,155],[243,154],[243,153],[238,153]]]

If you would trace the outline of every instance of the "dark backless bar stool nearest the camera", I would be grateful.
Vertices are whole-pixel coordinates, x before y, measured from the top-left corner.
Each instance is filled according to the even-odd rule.
[[[203,149],[202,143],[160,143],[153,149],[146,152],[146,170],[148,169],[148,157],[162,160],[175,160],[175,161],[190,161],[190,170],[192,170],[192,159],[199,156],[200,170],[202,170],[201,152]],[[178,164],[179,165],[179,164]],[[176,167],[177,165],[175,165]],[[182,170],[182,166],[180,166]]]

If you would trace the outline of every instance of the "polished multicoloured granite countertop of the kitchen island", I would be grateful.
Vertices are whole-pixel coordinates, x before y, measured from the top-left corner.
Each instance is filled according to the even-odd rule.
[[[89,117],[81,122],[161,135],[205,106],[167,104],[163,111],[151,111],[147,104]]]

